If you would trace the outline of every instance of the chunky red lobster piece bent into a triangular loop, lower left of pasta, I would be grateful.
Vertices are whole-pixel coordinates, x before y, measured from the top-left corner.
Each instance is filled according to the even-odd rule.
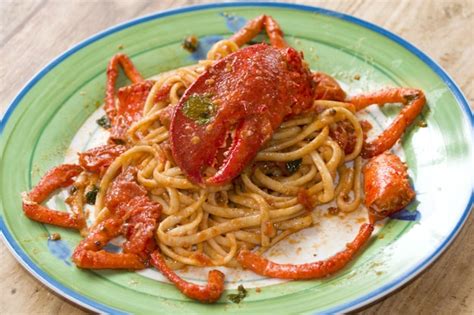
[[[154,232],[161,206],[151,201],[147,191],[136,182],[136,170],[128,168],[117,176],[106,194],[111,216],[92,227],[74,250],[72,260],[88,269],[143,269],[155,249]],[[103,248],[113,238],[126,238],[122,253]]]

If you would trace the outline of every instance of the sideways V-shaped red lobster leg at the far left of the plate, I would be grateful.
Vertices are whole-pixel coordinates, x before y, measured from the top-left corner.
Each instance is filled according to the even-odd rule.
[[[47,172],[30,193],[23,194],[23,212],[25,215],[42,223],[72,229],[83,228],[86,224],[84,218],[40,205],[56,189],[71,185],[73,177],[81,172],[82,168],[74,164],[63,164]]]

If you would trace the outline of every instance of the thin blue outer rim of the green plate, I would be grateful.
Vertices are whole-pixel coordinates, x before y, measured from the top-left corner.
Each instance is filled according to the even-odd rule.
[[[59,57],[54,59],[52,62],[50,62],[48,65],[46,65],[42,70],[40,70],[26,85],[25,87],[20,91],[20,93],[15,97],[13,102],[10,104],[8,107],[2,121],[0,122],[0,135],[2,134],[8,119],[10,118],[11,114],[15,110],[16,106],[18,103],[21,101],[21,99],[25,96],[26,93],[45,75],[47,74],[51,69],[56,67],[58,64],[60,64],[64,59],[69,57],[70,55],[74,54],[75,52],[79,51],[80,49],[86,47],[87,45],[103,38],[106,37],[110,34],[113,34],[115,32],[118,32],[120,30],[126,29],[128,27],[144,23],[150,20],[155,20],[155,19],[160,19],[166,16],[170,15],[176,15],[176,14],[181,14],[185,12],[192,12],[192,11],[200,11],[200,10],[206,10],[206,9],[215,9],[215,8],[227,8],[227,7],[275,7],[275,8],[286,8],[286,9],[293,9],[293,10],[300,10],[300,11],[310,11],[313,13],[318,13],[318,14],[324,14],[327,16],[335,17],[341,20],[345,20],[360,26],[363,26],[369,30],[372,30],[376,33],[379,33],[392,41],[398,43],[399,45],[403,46],[407,50],[409,50],[411,53],[416,55],[419,59],[421,59],[426,65],[428,65],[443,81],[444,83],[448,86],[448,88],[451,90],[453,95],[455,96],[456,100],[458,101],[459,104],[461,104],[461,108],[466,114],[467,118],[471,122],[471,127],[474,129],[474,114],[472,113],[469,104],[459,89],[459,87],[456,85],[456,83],[453,81],[453,79],[435,62],[433,61],[430,57],[428,57],[425,53],[423,53],[421,50],[407,42],[406,40],[402,39],[398,35],[393,34],[392,32],[389,32],[385,30],[384,28],[377,26],[375,24],[366,22],[364,20],[361,20],[359,18],[327,10],[327,9],[322,9],[318,7],[312,7],[312,6],[307,6],[307,5],[300,5],[300,4],[290,4],[290,3],[280,3],[280,2],[227,2],[227,3],[211,3],[211,4],[204,4],[204,5],[196,5],[196,6],[189,6],[189,7],[183,7],[179,9],[171,9],[171,10],[166,10],[162,11],[159,13],[154,13],[151,15],[147,15],[141,18],[137,18],[135,20],[125,22],[116,26],[113,26],[111,28],[106,29],[105,31],[102,31],[98,34],[95,34],[88,39],[80,42],[73,48],[67,50],[63,54],[61,54]],[[472,133],[474,135],[474,132]],[[474,136],[473,136],[474,138]],[[474,143],[474,139],[472,141]],[[461,227],[463,224],[466,222],[466,219],[468,218],[472,205],[474,204],[474,187],[473,191],[471,193],[471,197],[469,199],[469,202],[466,205],[466,208],[464,210],[463,215],[461,216],[460,220],[456,224],[454,230],[451,232],[451,234],[443,241],[443,243],[429,256],[427,257],[424,261],[419,263],[417,266],[412,268],[411,270],[407,271],[405,274],[401,275],[398,277],[396,280],[384,285],[383,287],[366,294],[358,299],[355,299],[353,301],[347,302],[345,304],[341,304],[337,307],[334,307],[329,310],[325,310],[325,313],[340,313],[340,312],[347,312],[351,311],[357,308],[360,308],[364,305],[367,305],[371,302],[374,302],[375,300],[389,294],[390,292],[396,290],[397,288],[401,287],[411,279],[413,279],[416,275],[418,275],[420,272],[422,272],[428,265],[433,263],[435,259],[441,255],[441,253],[447,248],[447,246],[454,240],[456,235],[459,233]],[[60,295],[68,298],[69,300],[86,307],[88,309],[98,311],[98,312],[106,312],[106,313],[114,313],[114,314],[124,314],[120,312],[119,310],[112,308],[110,306],[107,306],[105,304],[98,303],[90,298],[87,298],[85,296],[82,296],[78,294],[77,292],[67,288],[66,286],[62,285],[58,281],[52,279],[47,273],[42,271],[29,257],[28,255],[23,252],[23,250],[19,247],[19,245],[16,243],[16,241],[13,239],[10,231],[5,226],[5,223],[3,222],[3,219],[0,217],[0,231],[2,232],[2,235],[4,239],[6,240],[7,247],[11,250],[13,255],[17,258],[17,260],[28,270],[30,271],[38,280],[40,280],[43,284],[46,284],[50,289],[53,291],[59,293]]]

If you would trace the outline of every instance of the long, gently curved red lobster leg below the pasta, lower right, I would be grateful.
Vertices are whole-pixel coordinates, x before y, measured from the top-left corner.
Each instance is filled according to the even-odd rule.
[[[301,265],[277,264],[246,249],[240,251],[237,260],[242,267],[262,276],[292,280],[324,278],[344,268],[364,246],[373,230],[373,224],[363,224],[356,238],[346,245],[346,249],[317,262]]]

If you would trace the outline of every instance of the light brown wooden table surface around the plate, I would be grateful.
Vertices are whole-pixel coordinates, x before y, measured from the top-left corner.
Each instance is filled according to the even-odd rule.
[[[117,23],[208,1],[0,2],[0,114],[52,58]],[[348,13],[395,32],[436,60],[474,101],[474,9],[465,1],[294,1]],[[446,209],[449,211],[449,209]],[[474,312],[474,216],[444,255],[403,289],[363,314]],[[85,311],[33,278],[0,242],[0,314]]]

